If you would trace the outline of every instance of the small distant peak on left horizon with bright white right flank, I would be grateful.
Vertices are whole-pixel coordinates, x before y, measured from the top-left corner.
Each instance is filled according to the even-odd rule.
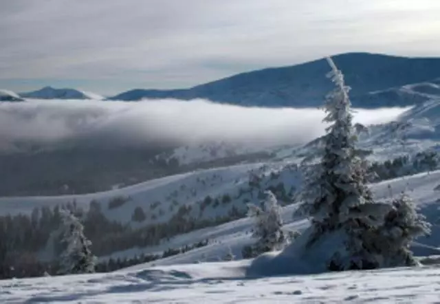
[[[20,96],[39,99],[104,99],[102,96],[86,91],[79,91],[77,89],[54,89],[53,87],[43,87],[43,89],[39,89],[38,91],[21,93]]]

